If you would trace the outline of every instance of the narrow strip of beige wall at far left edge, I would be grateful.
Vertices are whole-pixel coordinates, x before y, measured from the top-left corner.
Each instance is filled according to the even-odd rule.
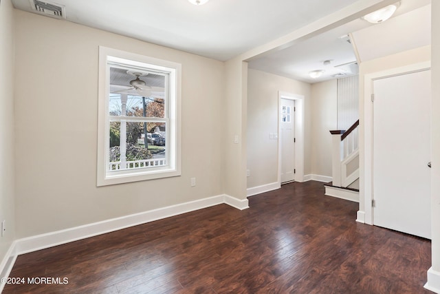
[[[14,240],[14,38],[12,4],[0,4],[0,263]],[[1,271],[1,269],[0,269]]]

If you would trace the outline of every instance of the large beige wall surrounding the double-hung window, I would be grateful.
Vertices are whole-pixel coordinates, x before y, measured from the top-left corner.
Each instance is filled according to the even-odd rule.
[[[223,63],[14,13],[18,238],[224,192]],[[181,176],[96,187],[98,45],[181,63]],[[197,186],[191,188],[192,177]]]

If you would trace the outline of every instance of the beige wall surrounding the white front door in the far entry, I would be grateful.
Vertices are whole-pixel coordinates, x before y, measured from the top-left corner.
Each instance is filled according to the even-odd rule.
[[[305,174],[311,171],[310,85],[259,70],[248,70],[248,188],[278,181],[278,91],[305,96]]]

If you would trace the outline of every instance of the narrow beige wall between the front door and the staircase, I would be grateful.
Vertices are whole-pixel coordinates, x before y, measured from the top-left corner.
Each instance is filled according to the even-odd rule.
[[[311,174],[332,176],[331,134],[338,125],[338,80],[311,85]]]

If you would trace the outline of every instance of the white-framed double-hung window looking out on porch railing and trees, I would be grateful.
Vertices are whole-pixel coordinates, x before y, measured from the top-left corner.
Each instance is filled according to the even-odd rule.
[[[98,186],[180,175],[180,72],[100,47]]]

